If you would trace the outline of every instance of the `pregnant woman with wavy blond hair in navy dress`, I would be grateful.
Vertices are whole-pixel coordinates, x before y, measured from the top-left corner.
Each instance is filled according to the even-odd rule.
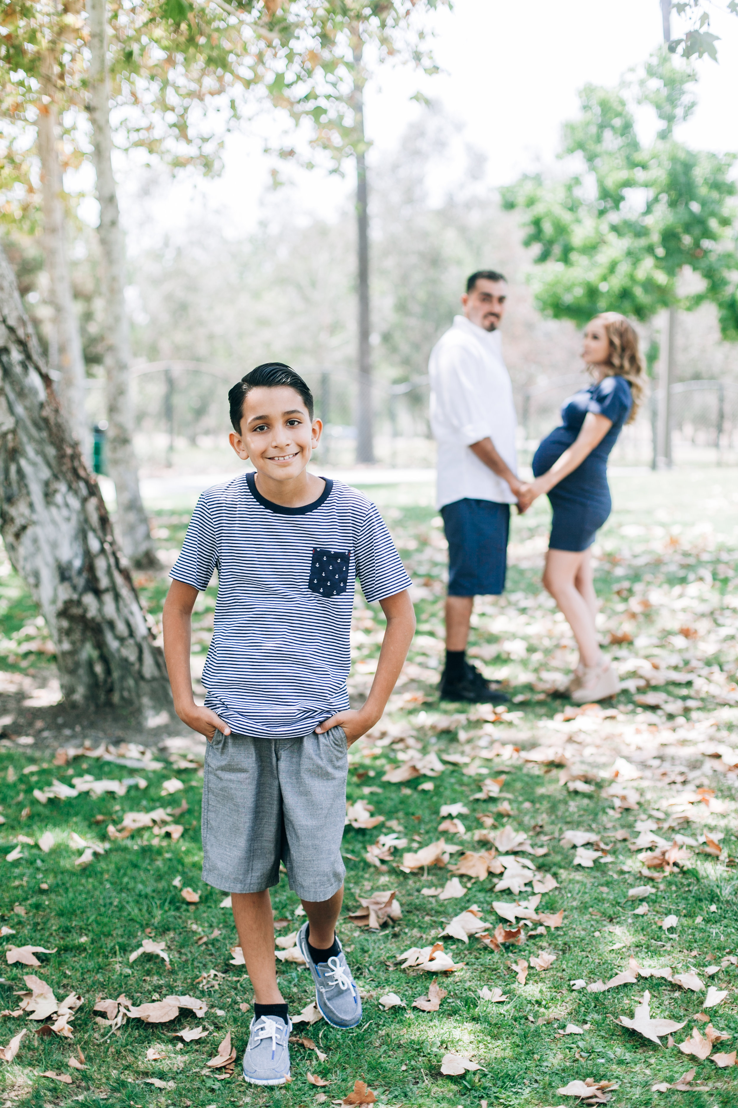
[[[589,704],[620,691],[617,674],[597,640],[591,547],[612,509],[607,456],[623,424],[635,419],[644,369],[638,337],[616,311],[603,312],[586,326],[582,357],[594,382],[564,401],[561,427],[536,451],[536,480],[520,497],[520,509],[543,493],[551,501],[543,585],[579,646],[580,661],[569,693],[575,702]]]

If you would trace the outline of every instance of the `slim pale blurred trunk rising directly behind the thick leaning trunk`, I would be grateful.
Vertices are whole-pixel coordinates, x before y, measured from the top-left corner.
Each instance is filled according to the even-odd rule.
[[[43,195],[43,248],[55,312],[55,341],[50,343],[49,358],[60,378],[56,392],[72,433],[86,455],[90,429],[85,417],[85,371],[80,321],[74,307],[72,277],[66,250],[66,218],[62,199],[62,167],[56,146],[59,115],[55,102],[53,62],[44,60],[44,94],[46,105],[39,105],[38,133],[41,156]],[[52,346],[59,359],[54,365]]]

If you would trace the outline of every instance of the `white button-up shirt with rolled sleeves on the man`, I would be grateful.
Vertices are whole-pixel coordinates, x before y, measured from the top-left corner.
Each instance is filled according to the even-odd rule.
[[[428,373],[430,427],[438,443],[436,506],[465,497],[513,504],[507,481],[469,449],[491,439],[517,475],[517,417],[500,332],[455,316],[453,327],[430,351]]]

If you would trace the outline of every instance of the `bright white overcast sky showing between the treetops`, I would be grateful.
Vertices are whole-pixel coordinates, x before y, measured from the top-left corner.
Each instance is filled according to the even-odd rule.
[[[726,0],[711,4],[719,64],[697,63],[699,106],[682,131],[685,141],[718,152],[738,151],[738,18],[724,14]],[[395,146],[422,111],[409,99],[419,86],[458,123],[464,141],[485,152],[492,185],[550,163],[562,122],[576,114],[576,90],[588,81],[614,84],[662,40],[658,0],[455,0],[433,23],[444,72],[418,82],[409,70],[381,71],[367,93],[367,136],[377,151]],[[207,209],[220,212],[235,230],[252,227],[274,163],[261,155],[258,140],[240,135],[229,138],[225,162],[217,181],[157,189],[135,222],[162,232]],[[302,208],[329,218],[350,187],[320,171],[289,175]]]

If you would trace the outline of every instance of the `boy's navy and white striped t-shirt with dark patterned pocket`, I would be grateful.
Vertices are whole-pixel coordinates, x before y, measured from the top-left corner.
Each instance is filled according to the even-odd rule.
[[[292,738],[350,707],[350,630],[358,577],[367,601],[410,585],[377,509],[325,480],[283,507],[254,474],[207,489],[170,576],[205,589],[218,570],[206,706],[237,735]]]

